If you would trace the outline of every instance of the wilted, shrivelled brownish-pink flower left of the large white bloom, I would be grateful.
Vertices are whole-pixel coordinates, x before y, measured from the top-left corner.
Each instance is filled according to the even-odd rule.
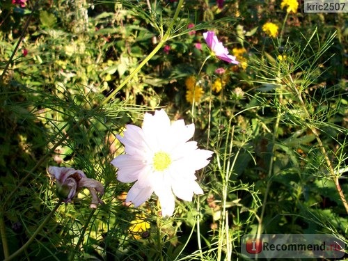
[[[97,192],[100,195],[104,194],[102,183],[86,177],[83,171],[74,168],[49,166],[48,173],[56,180],[57,196],[62,198],[65,203],[70,203],[83,187],[86,187],[90,191],[90,196],[92,196],[90,207],[96,208],[97,204],[103,203],[97,196]]]

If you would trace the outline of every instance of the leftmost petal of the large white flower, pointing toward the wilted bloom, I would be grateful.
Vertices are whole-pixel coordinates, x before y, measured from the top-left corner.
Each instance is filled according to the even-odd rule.
[[[134,182],[145,168],[143,160],[134,159],[132,155],[119,155],[111,161],[113,166],[118,167],[117,179],[120,182]]]

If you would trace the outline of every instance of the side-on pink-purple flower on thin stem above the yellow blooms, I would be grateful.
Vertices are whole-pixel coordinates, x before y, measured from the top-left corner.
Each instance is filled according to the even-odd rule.
[[[222,42],[219,42],[213,31],[207,31],[203,33],[203,37],[209,49],[212,51],[212,55],[216,56],[222,61],[226,61],[228,63],[238,64],[236,61],[236,57],[228,54],[228,49],[223,46]]]

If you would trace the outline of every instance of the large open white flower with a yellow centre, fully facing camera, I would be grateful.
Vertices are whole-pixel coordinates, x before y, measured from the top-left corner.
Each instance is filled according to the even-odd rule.
[[[118,168],[120,182],[136,181],[126,202],[138,207],[155,192],[162,216],[171,216],[174,195],[191,201],[193,193],[203,194],[195,172],[207,166],[213,152],[200,150],[196,141],[189,141],[194,130],[194,124],[185,125],[184,120],[171,123],[163,109],[153,116],[145,113],[142,128],[126,125],[124,136],[117,136],[126,153],[111,161]]]

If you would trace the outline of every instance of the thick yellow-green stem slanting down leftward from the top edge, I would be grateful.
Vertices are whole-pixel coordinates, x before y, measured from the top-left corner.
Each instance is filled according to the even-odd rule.
[[[134,75],[137,74],[141,70],[141,68],[143,68],[143,66],[146,63],[148,63],[148,61],[150,61],[150,59],[153,56],[155,56],[155,54],[159,51],[159,49],[161,49],[161,47],[164,45],[164,43],[170,38],[171,33],[173,31],[174,24],[177,21],[177,17],[179,16],[183,2],[184,2],[184,0],[180,0],[179,3],[177,3],[177,8],[175,10],[175,14],[174,14],[174,17],[171,21],[171,24],[169,24],[168,30],[163,35],[163,37],[161,38],[161,40],[159,41],[159,43],[155,47],[155,49],[153,49],[152,52],[150,52],[150,54],[148,56],[146,56],[146,58],[133,70],[133,72],[131,74],[129,74],[128,77],[124,81],[122,81],[122,83],[118,86],[118,88],[113,90],[112,93],[110,93],[110,95],[104,99],[102,104],[106,104],[107,102],[109,102],[109,100],[111,100],[113,98],[113,96],[115,96],[116,93],[118,93],[118,91],[121,88],[123,88],[126,84],[128,84],[128,82],[134,77]]]

